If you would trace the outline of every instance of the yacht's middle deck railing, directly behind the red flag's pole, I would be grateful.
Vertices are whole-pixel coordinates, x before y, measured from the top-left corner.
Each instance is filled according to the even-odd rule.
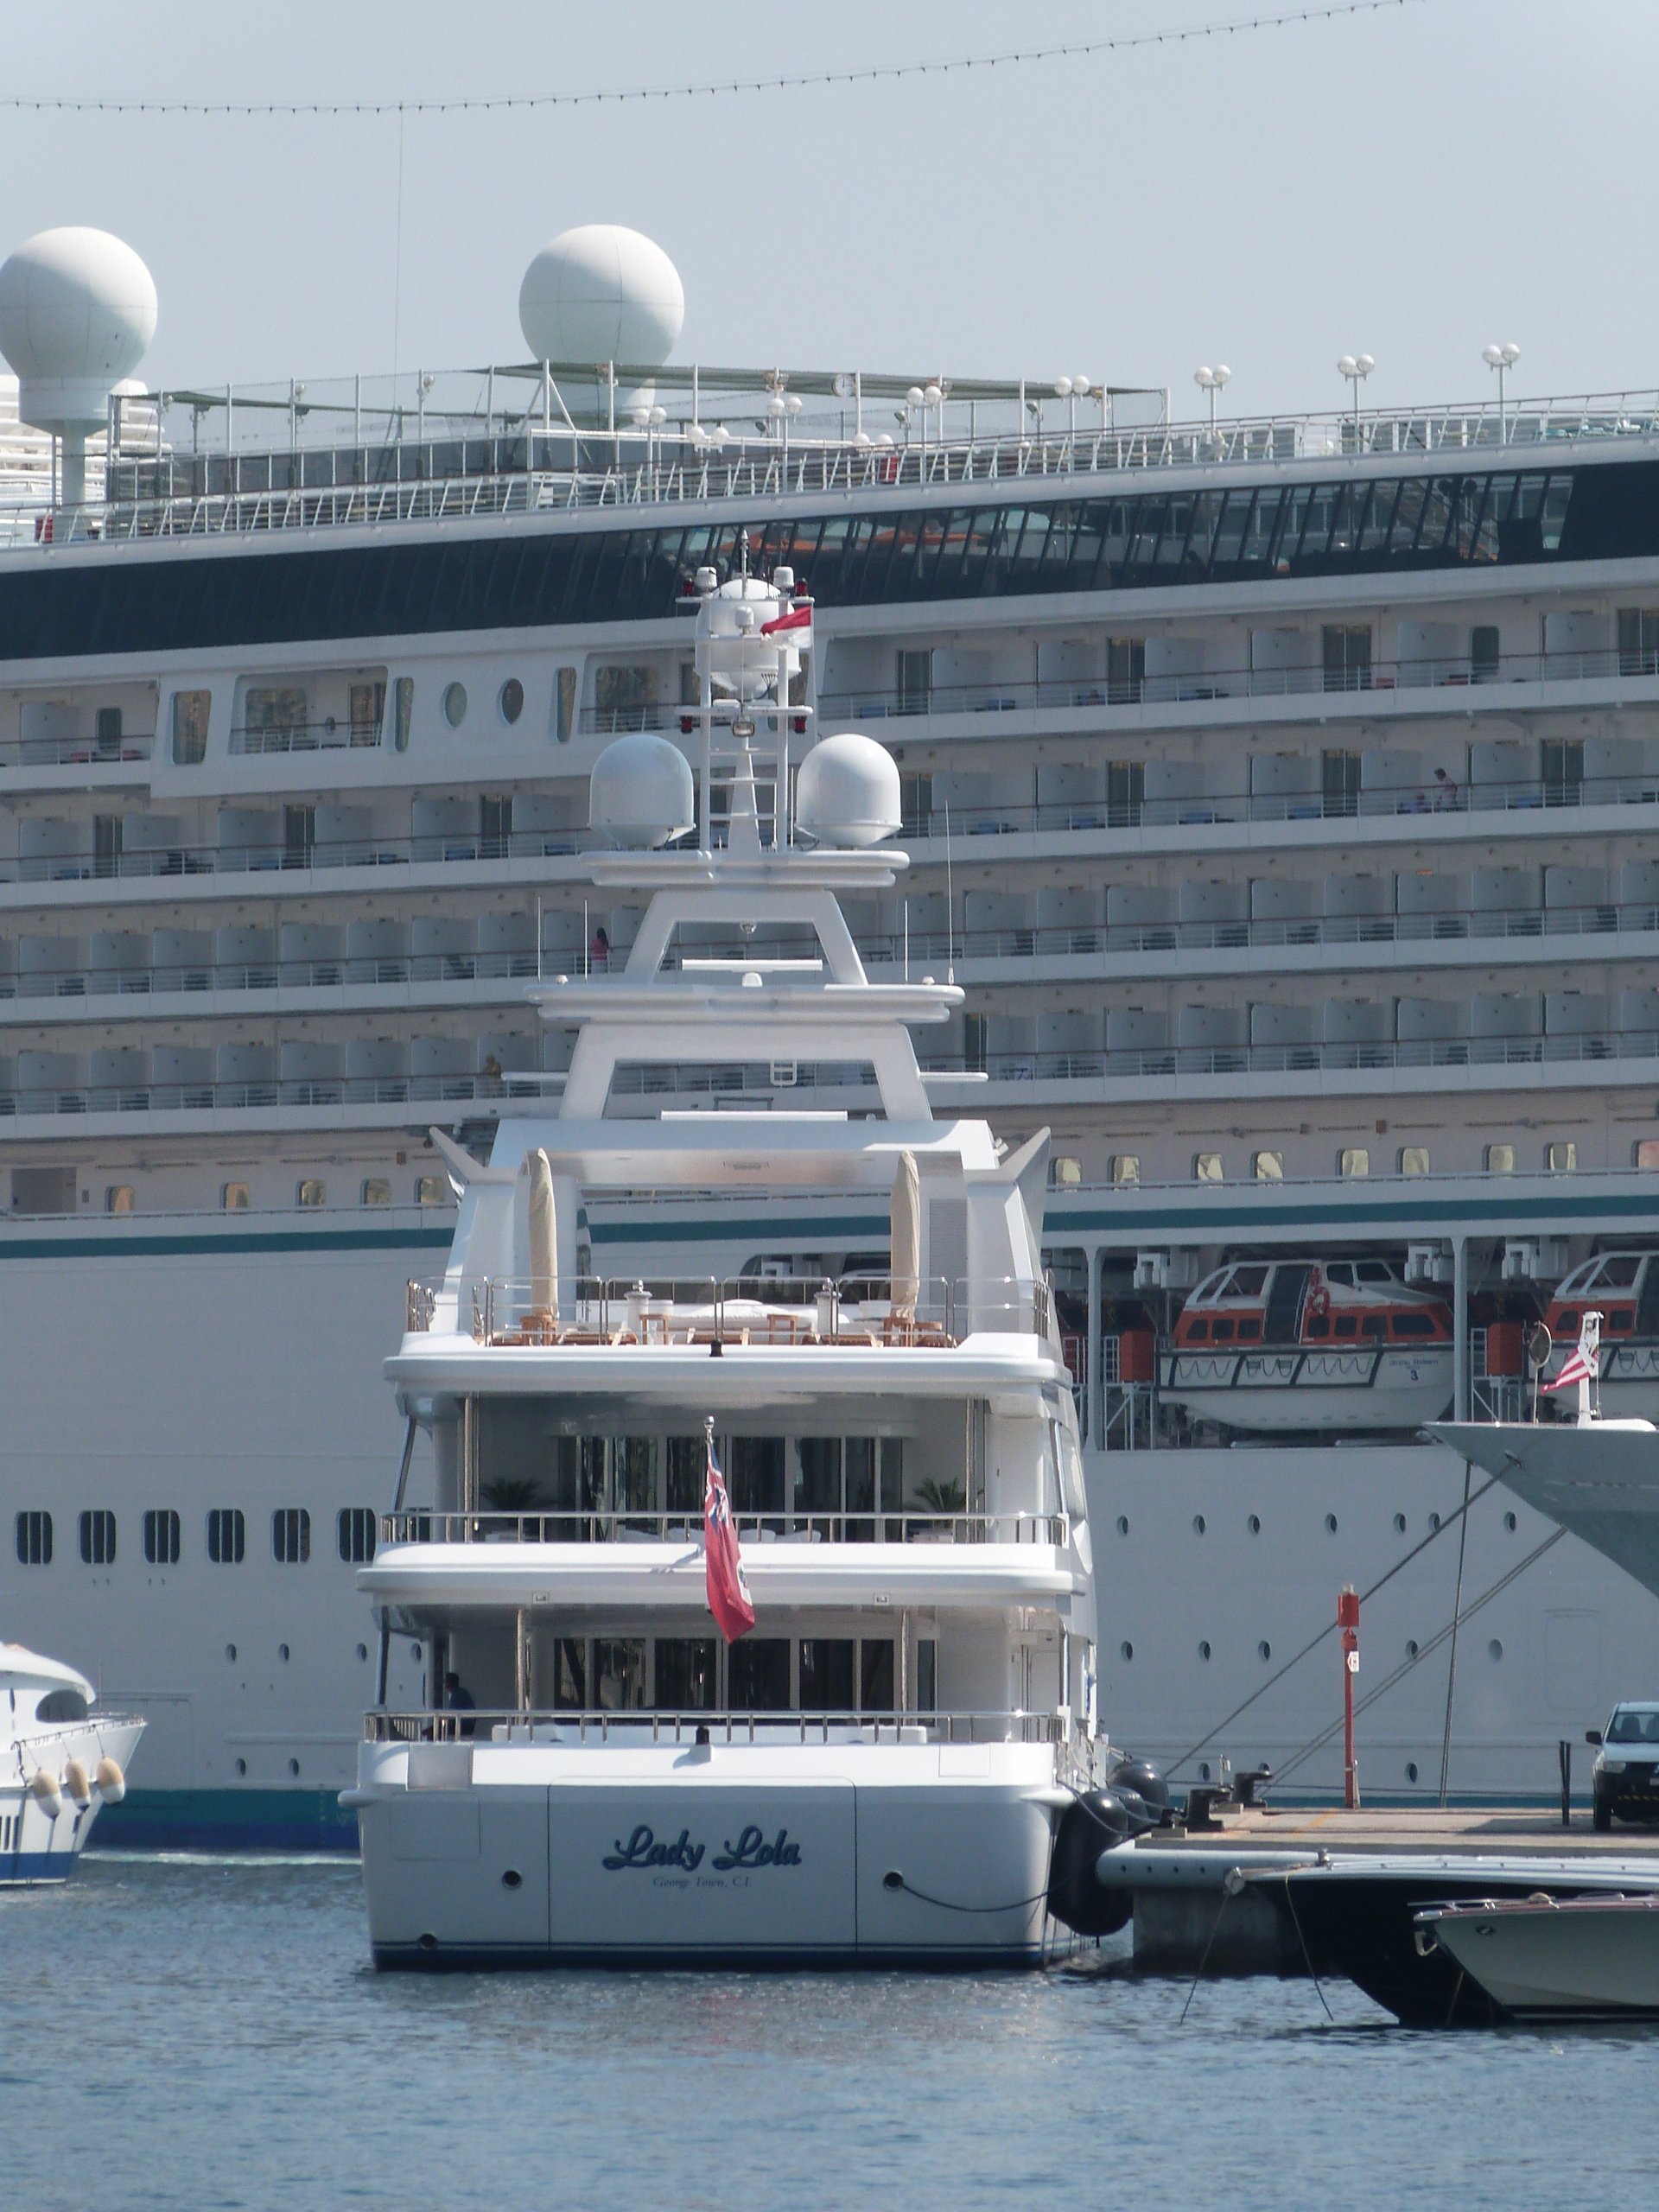
[[[818,1513],[805,1506],[732,1513],[745,1544],[1046,1544],[1064,1548],[1064,1513],[951,1513],[927,1506],[900,1513]],[[380,1544],[701,1544],[701,1511],[630,1509],[380,1515]]]

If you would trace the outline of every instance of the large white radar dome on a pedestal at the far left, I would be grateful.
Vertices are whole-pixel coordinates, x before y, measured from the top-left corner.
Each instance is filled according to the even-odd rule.
[[[0,265],[0,352],[35,429],[102,429],[155,336],[155,281],[108,230],[40,230]]]

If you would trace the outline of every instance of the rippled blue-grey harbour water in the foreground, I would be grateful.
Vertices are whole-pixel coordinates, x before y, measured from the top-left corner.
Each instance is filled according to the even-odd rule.
[[[248,1860],[93,1858],[0,1958],[31,2212],[1659,2203],[1659,2035],[1345,1984],[376,1975],[354,1867]]]

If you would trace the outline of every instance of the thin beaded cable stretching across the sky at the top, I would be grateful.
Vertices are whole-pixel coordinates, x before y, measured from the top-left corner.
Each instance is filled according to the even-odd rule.
[[[1082,62],[1133,46],[1188,46],[1206,38],[1237,38],[1243,31],[1279,31],[1301,22],[1334,22],[1343,15],[1378,15],[1383,9],[1418,7],[1420,0],[1338,0],[1334,7],[1298,7],[1276,15],[1245,15],[1232,22],[1188,24],[1179,31],[1128,31],[1064,46],[1026,46],[1009,53],[964,53],[938,62],[885,62],[869,69],[812,69],[776,77],[730,77],[706,84],[633,84],[593,93],[482,93],[456,100],[49,100],[7,93],[0,111],[33,115],[467,115],[502,108],[593,108],[613,102],[714,100],[730,93],[794,93],[825,84],[891,84],[900,77],[951,77],[969,69],[1024,69],[1035,62]]]

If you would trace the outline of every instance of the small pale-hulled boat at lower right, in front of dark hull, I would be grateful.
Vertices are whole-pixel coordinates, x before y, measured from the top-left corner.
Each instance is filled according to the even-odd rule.
[[[1659,1896],[1484,1898],[1416,1929],[1511,2020],[1659,2020]]]

